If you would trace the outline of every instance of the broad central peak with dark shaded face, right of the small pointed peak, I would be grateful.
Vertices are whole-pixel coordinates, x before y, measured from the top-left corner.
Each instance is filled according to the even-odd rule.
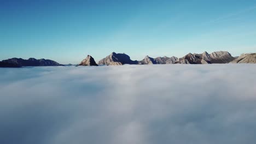
[[[99,65],[123,65],[123,64],[138,64],[138,61],[132,61],[125,53],[112,52],[106,58],[98,62]]]

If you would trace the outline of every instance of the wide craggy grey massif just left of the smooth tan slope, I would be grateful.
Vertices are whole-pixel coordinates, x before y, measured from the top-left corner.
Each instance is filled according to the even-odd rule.
[[[205,51],[201,54],[188,53],[182,58],[179,58],[175,63],[181,64],[211,64],[211,63],[229,63],[235,58],[227,51],[217,51],[210,55]]]

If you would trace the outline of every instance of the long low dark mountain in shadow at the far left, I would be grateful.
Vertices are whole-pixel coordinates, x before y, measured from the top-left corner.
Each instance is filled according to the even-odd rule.
[[[22,59],[22,58],[11,58],[3,60],[2,63],[12,65],[18,65],[18,67],[36,67],[36,66],[63,66],[55,61],[49,59]]]

